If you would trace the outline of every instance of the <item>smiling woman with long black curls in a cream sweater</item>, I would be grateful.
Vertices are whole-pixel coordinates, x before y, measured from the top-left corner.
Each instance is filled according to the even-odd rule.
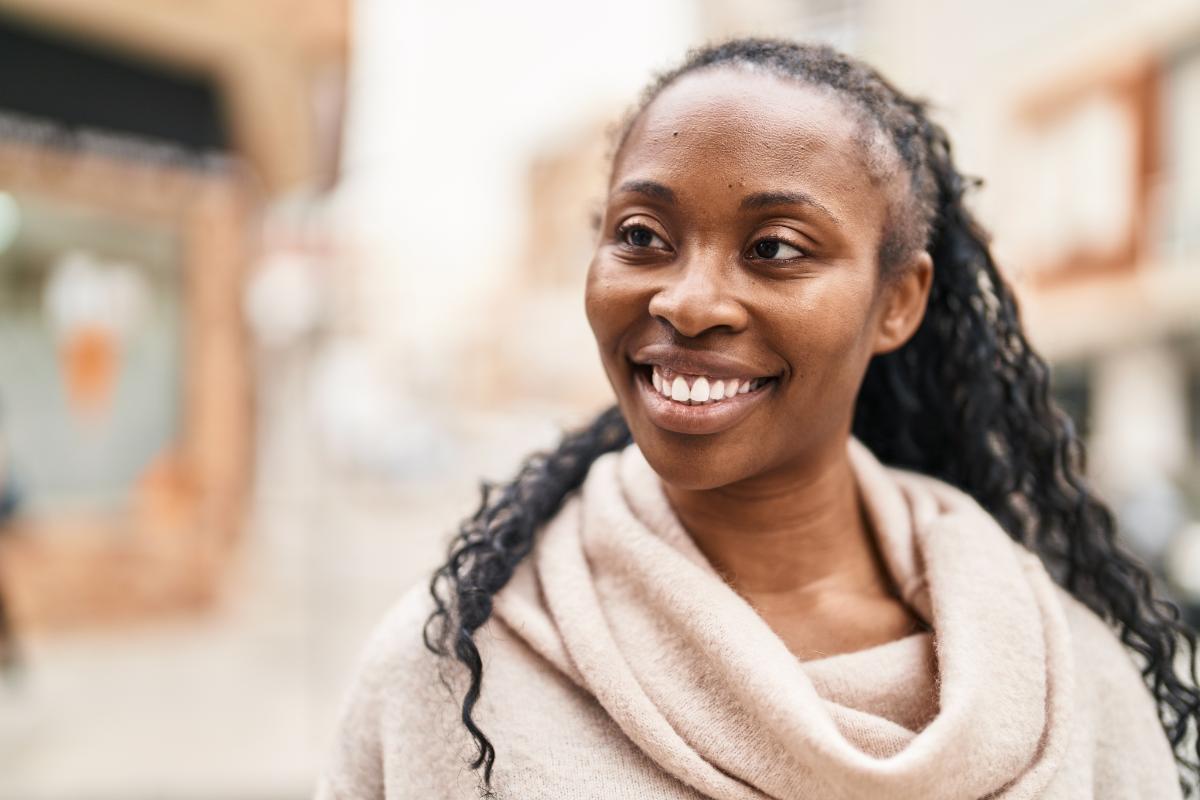
[[[1193,634],[1088,494],[967,186],[824,47],[650,86],[586,299],[618,404],[384,622],[324,795],[1178,796]]]

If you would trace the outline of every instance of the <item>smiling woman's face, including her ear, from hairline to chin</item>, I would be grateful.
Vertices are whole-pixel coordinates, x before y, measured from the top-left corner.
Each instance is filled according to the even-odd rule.
[[[919,323],[928,269],[919,297],[880,279],[895,179],[865,140],[830,94],[734,68],[680,78],[634,124],[586,302],[667,482],[715,488],[844,449],[868,361]]]

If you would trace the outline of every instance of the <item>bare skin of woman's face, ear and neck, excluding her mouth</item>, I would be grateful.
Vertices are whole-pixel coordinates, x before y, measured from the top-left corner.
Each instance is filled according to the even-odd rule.
[[[895,596],[846,452],[868,362],[917,330],[932,273],[914,252],[881,276],[904,172],[881,176],[866,142],[820,89],[732,67],[685,76],[614,158],[588,272],[588,320],[634,440],[713,566],[804,660],[922,625]],[[780,201],[748,209],[761,193]],[[774,380],[726,428],[679,433],[637,385],[631,359],[648,345]]]

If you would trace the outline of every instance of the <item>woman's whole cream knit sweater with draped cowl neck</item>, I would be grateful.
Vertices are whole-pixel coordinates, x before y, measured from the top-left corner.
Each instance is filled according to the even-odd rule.
[[[636,446],[601,457],[476,636],[502,800],[1169,800],[1172,754],[1110,630],[961,492],[850,453],[930,624],[799,662],[708,564]],[[478,796],[418,587],[344,706],[323,799]]]

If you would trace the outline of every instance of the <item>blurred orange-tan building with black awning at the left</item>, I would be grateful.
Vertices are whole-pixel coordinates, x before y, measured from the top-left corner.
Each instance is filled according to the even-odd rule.
[[[211,599],[254,459],[245,284],[296,239],[259,219],[335,179],[347,28],[338,0],[0,2],[18,627]]]

